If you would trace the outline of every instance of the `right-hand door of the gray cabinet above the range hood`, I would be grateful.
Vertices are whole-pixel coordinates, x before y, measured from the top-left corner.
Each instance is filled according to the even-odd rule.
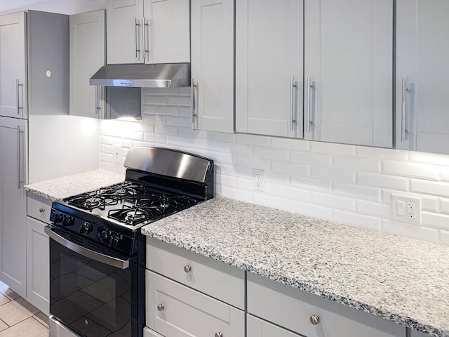
[[[189,0],[145,0],[145,63],[190,62]]]

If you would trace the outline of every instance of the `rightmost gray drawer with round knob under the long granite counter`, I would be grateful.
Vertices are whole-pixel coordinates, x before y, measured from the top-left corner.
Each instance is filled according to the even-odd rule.
[[[345,305],[248,273],[248,313],[307,337],[405,336],[406,328]],[[318,324],[311,324],[311,316]]]

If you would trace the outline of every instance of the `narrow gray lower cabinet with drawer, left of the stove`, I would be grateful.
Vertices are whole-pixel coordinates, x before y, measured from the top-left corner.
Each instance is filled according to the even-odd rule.
[[[50,311],[50,252],[48,235],[51,200],[28,194],[27,197],[27,301],[48,314]]]

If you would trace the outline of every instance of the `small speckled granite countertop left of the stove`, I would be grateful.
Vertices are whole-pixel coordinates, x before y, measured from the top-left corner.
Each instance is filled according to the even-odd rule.
[[[120,183],[123,180],[125,180],[123,174],[98,169],[25,185],[24,188],[27,192],[55,200]]]

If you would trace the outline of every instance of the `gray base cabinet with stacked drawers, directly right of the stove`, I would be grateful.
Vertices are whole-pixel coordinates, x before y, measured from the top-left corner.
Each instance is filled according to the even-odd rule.
[[[243,270],[149,238],[147,268],[145,336],[245,336]]]

